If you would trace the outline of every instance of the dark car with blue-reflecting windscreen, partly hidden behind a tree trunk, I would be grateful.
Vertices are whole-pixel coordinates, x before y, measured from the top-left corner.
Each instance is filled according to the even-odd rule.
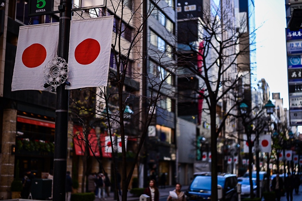
[[[218,174],[217,181],[224,201],[238,200],[236,174]],[[186,195],[187,200],[211,200],[211,172],[195,173]]]

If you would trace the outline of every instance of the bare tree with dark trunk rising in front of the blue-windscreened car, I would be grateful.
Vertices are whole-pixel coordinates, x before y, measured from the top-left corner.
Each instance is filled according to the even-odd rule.
[[[179,68],[183,67],[183,72],[178,70],[178,75],[200,80],[196,93],[206,103],[203,114],[210,116],[212,192],[217,192],[217,137],[228,137],[225,121],[237,114],[238,99],[243,98],[237,91],[245,80],[250,81],[250,69],[246,68],[249,61],[239,59],[253,51],[249,37],[243,37],[247,34],[243,28],[247,19],[237,21],[233,11],[232,5],[220,1],[220,5],[203,9],[202,17],[178,21],[178,36],[182,36],[178,42],[185,45],[179,49]],[[222,105],[220,121],[217,105]],[[211,199],[217,200],[217,193],[212,193]]]

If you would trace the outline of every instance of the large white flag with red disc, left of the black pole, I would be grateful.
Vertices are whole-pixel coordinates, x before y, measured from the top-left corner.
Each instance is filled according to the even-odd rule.
[[[43,90],[44,67],[57,54],[59,23],[21,26],[11,90]]]

